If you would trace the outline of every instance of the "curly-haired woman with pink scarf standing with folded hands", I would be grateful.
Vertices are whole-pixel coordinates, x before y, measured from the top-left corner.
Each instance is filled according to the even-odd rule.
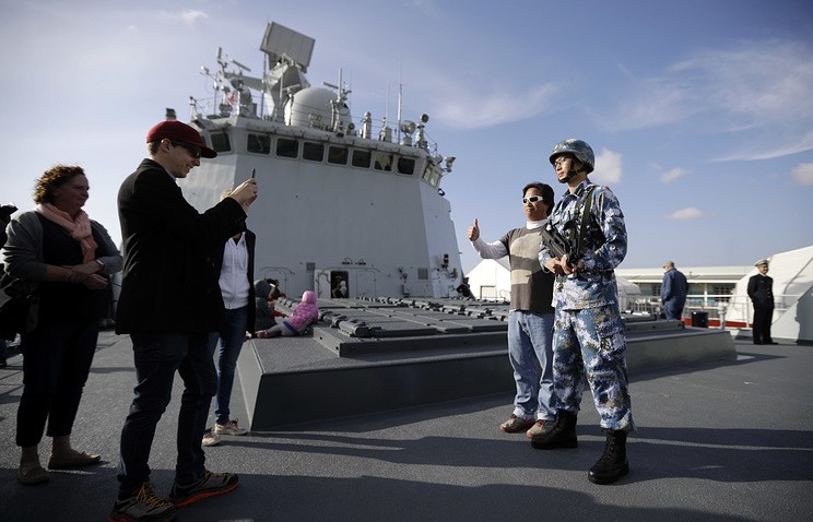
[[[109,276],[121,270],[122,258],[107,230],[82,210],[89,190],[81,167],[57,165],[36,183],[36,209],[8,227],[5,271],[37,282],[39,296],[36,327],[21,332],[24,388],[16,443],[22,448],[17,478],[25,485],[49,479],[38,454],[44,434],[54,439],[50,470],[102,459],[74,450],[71,430],[107,312]]]

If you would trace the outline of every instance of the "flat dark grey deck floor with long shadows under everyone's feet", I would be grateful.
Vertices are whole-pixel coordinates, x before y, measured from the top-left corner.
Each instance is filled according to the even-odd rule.
[[[737,363],[631,376],[638,431],[628,442],[632,472],[615,485],[587,481],[603,448],[589,392],[579,448],[555,451],[497,429],[511,411],[504,393],[224,437],[207,450],[208,466],[239,473],[240,486],[177,520],[813,520],[813,347],[735,347]],[[51,472],[40,486],[16,481],[22,357],[0,369],[1,521],[106,520],[134,379],[130,348],[129,337],[103,332],[74,427],[74,447],[102,453],[103,464]],[[176,380],[151,458],[163,494],[174,475],[179,393]],[[232,411],[245,420],[239,379]],[[44,463],[49,451],[46,438]]]

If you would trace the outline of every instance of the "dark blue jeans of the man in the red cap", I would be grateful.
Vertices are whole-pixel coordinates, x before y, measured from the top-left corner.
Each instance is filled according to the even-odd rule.
[[[200,441],[209,406],[217,388],[209,334],[131,333],[136,361],[136,396],[121,429],[118,465],[119,494],[130,496],[150,479],[150,449],[155,426],[173,393],[175,372],[184,380],[178,413],[178,460],[175,481],[189,484],[205,473]]]

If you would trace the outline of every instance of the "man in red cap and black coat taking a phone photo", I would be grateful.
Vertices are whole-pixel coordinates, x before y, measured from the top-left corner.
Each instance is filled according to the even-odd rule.
[[[209,331],[224,309],[207,251],[245,228],[257,182],[246,180],[201,214],[184,199],[176,179],[199,166],[201,156],[217,153],[180,121],[150,129],[146,149],[150,157],[118,193],[125,269],[116,333],[130,334],[138,384],[121,430],[119,495],[110,521],[170,520],[176,508],[228,493],[238,481],[232,473],[208,471],[200,443],[217,385]],[[175,484],[165,500],[153,489],[148,461],[176,371],[184,395]]]

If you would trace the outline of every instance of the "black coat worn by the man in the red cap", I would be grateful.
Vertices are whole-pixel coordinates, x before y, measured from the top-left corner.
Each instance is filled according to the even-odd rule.
[[[199,213],[173,177],[144,159],[118,193],[125,269],[116,333],[207,333],[223,317],[210,251],[245,228],[231,198]]]

